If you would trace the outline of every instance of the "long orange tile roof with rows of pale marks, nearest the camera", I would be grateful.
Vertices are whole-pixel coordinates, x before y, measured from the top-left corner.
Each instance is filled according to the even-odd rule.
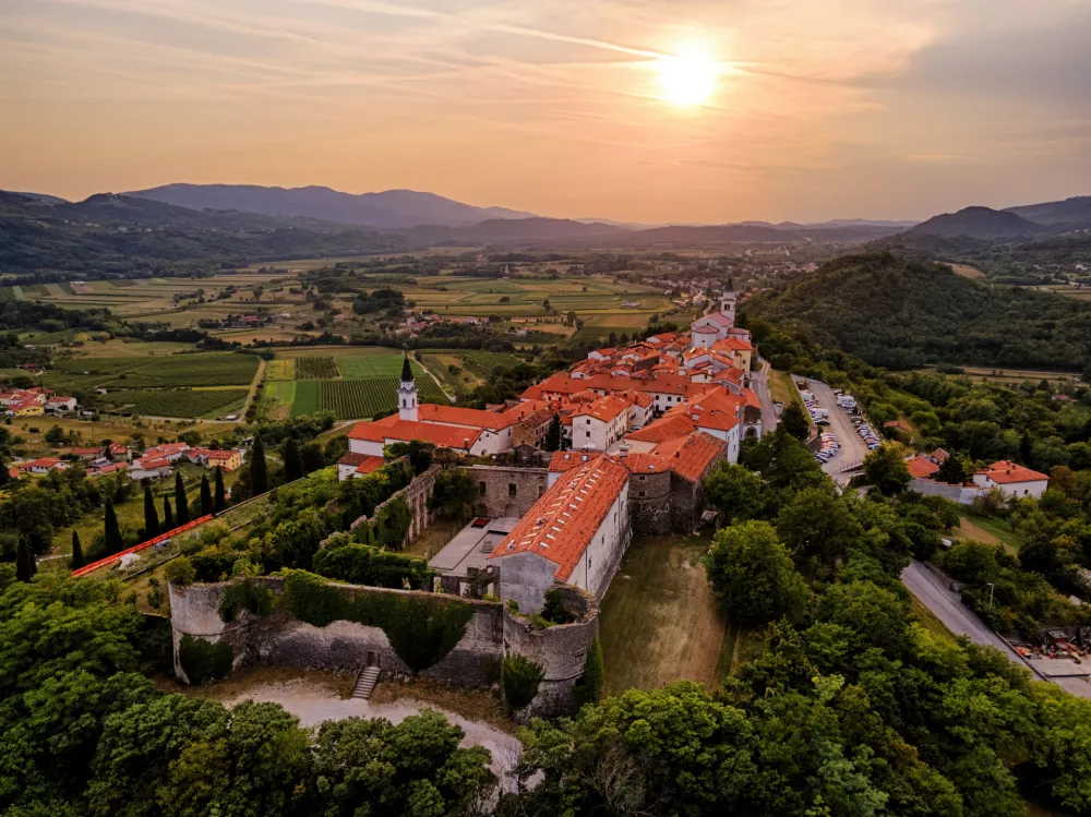
[[[628,469],[613,457],[598,457],[568,471],[533,504],[489,558],[533,553],[555,564],[553,575],[567,581],[627,482]]]

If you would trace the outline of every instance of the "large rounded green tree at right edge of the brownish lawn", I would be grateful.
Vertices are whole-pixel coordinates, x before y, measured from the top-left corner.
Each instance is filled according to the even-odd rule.
[[[708,578],[732,622],[765,624],[799,616],[807,597],[803,577],[776,529],[747,521],[720,530],[708,557]]]

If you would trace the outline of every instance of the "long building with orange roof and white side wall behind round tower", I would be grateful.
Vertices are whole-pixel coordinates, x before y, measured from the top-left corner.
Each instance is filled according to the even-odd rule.
[[[601,600],[632,539],[628,469],[596,457],[563,473],[489,554],[501,569],[501,598],[541,610],[558,582]]]

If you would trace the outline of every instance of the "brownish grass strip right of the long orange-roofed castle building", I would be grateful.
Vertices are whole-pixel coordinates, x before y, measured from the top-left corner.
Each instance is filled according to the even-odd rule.
[[[688,678],[719,684],[727,621],[700,558],[707,539],[634,537],[602,600],[606,694]]]

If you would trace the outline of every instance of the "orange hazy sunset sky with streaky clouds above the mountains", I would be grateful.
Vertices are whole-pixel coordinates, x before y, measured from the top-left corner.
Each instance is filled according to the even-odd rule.
[[[1088,43],[1091,0],[0,0],[0,188],[925,218],[1091,194]]]

